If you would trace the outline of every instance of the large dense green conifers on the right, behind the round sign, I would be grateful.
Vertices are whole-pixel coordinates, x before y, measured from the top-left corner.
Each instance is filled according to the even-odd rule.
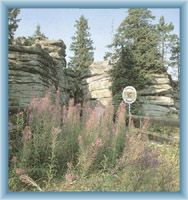
[[[166,57],[170,48],[173,64],[178,65],[178,41],[171,34],[173,24],[165,23],[163,16],[159,24],[155,24],[154,19],[149,9],[128,9],[128,16],[120,24],[112,44],[108,46],[110,52],[105,58],[110,59],[112,64],[111,90],[116,106],[122,101],[124,87],[132,85],[139,91],[150,83],[150,73],[166,72]],[[139,103],[134,103],[132,112],[139,114],[139,107]]]

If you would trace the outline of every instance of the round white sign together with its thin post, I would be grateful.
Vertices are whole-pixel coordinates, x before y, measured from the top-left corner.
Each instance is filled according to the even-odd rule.
[[[136,101],[137,92],[133,86],[127,86],[123,89],[122,97],[129,106],[129,127],[131,124],[131,104]]]

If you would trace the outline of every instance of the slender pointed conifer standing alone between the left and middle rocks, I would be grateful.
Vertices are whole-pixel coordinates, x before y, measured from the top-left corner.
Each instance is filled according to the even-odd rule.
[[[76,20],[76,32],[72,37],[70,50],[73,51],[73,57],[70,58],[69,66],[77,71],[88,68],[93,62],[93,41],[90,38],[88,21],[84,16]]]

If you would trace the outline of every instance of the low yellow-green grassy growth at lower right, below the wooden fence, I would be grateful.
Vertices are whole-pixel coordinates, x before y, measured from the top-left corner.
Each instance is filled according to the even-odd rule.
[[[140,141],[139,137],[128,136],[129,145],[116,163],[115,170],[99,170],[87,176],[74,176],[75,180],[56,182],[50,189],[70,192],[178,192],[179,147],[143,145],[144,141]],[[104,169],[109,169],[106,156],[102,164]],[[73,177],[75,171],[71,173]]]

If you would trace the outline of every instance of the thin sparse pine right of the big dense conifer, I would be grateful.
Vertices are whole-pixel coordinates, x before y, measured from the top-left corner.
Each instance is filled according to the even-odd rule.
[[[164,64],[167,64],[166,55],[169,53],[169,45],[171,40],[171,31],[174,29],[172,23],[165,23],[165,19],[163,16],[160,17],[159,24],[157,25],[157,30],[159,32],[159,48],[161,53],[161,60]]]

